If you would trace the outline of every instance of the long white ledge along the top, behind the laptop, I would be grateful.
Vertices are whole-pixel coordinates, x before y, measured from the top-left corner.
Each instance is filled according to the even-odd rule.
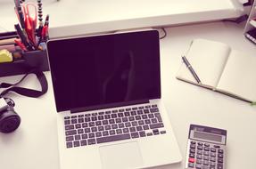
[[[27,2],[36,0],[27,0]],[[242,15],[238,0],[44,0],[54,36],[94,33],[123,28],[156,27]],[[13,0],[0,1],[0,32],[14,30],[18,22]],[[69,28],[76,25],[76,28]],[[68,27],[68,30],[67,30]],[[53,35],[51,35],[53,37]]]

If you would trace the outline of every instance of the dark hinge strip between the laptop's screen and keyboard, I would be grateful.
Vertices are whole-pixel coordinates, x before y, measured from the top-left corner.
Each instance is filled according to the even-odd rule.
[[[126,101],[126,102],[120,102],[120,103],[109,103],[109,104],[103,104],[103,105],[100,105],[100,106],[90,106],[90,107],[86,107],[86,108],[71,109],[70,112],[71,113],[78,113],[78,112],[88,111],[88,110],[118,108],[118,107],[122,107],[122,106],[144,104],[144,103],[149,103],[149,100]]]

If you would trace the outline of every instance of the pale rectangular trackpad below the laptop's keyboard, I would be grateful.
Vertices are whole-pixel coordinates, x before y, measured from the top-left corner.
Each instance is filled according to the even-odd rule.
[[[143,165],[136,141],[100,147],[103,169],[137,168]]]

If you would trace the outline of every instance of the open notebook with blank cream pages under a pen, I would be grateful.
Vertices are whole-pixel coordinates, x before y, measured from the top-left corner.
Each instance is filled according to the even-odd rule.
[[[242,101],[256,101],[256,55],[232,50],[220,42],[194,39],[186,58],[202,84],[196,82],[185,63],[178,70],[178,80]]]

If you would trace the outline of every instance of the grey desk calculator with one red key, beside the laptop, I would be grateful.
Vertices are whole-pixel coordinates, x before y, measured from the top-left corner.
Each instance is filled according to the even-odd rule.
[[[227,130],[203,125],[190,125],[186,169],[224,169]]]

